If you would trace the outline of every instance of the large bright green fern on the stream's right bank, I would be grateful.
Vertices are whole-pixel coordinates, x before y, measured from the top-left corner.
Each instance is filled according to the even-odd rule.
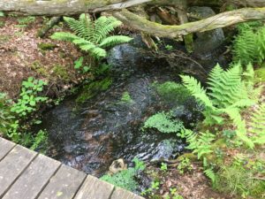
[[[252,65],[248,66],[251,71]],[[241,65],[233,65],[229,70],[224,71],[220,65],[209,73],[208,94],[201,83],[193,77],[181,76],[185,87],[192,95],[205,106],[203,114],[204,123],[207,125],[223,124],[223,115],[228,115],[235,126],[239,139],[246,142],[250,147],[254,143],[246,136],[246,124],[241,119],[240,110],[254,104],[254,100],[249,97],[247,88],[254,88],[251,83],[254,73],[249,73],[245,81],[242,80]]]

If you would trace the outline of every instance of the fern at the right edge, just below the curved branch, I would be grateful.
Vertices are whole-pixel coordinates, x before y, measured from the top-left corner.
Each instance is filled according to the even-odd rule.
[[[261,64],[265,58],[265,27],[256,32],[247,24],[241,26],[233,44],[234,61],[243,65]]]

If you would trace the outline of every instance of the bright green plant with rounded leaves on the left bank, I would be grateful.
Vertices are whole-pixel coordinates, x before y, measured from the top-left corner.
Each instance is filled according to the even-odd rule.
[[[23,81],[19,95],[20,98],[17,103],[12,105],[11,111],[17,113],[19,117],[25,117],[27,114],[36,111],[39,103],[45,102],[48,99],[44,96],[38,96],[38,93],[42,91],[45,85],[47,85],[47,82],[34,80],[33,77],[29,77],[26,81]]]

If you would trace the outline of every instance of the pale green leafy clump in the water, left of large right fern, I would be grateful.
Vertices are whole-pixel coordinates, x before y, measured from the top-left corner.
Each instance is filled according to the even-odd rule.
[[[158,131],[169,134],[169,133],[178,133],[184,129],[182,121],[178,119],[173,119],[171,112],[164,113],[158,112],[155,115],[148,118],[145,121],[143,130],[147,128],[156,128]]]

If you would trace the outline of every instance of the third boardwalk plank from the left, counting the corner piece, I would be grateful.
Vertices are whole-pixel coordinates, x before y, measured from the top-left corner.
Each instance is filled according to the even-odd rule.
[[[7,191],[3,199],[36,198],[59,166],[60,163],[56,160],[38,155]]]

